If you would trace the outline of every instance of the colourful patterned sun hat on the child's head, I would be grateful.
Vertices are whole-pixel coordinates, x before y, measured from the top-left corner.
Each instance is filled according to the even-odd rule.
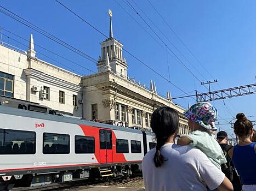
[[[192,105],[184,115],[192,122],[198,123],[206,129],[217,130],[214,125],[214,122],[217,120],[217,109],[208,102]]]

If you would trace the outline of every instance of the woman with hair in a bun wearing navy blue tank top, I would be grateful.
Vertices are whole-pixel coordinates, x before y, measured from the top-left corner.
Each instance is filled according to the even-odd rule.
[[[229,150],[235,168],[240,175],[243,191],[256,190],[256,142],[252,142],[253,124],[244,114],[236,115],[234,132],[239,143]]]

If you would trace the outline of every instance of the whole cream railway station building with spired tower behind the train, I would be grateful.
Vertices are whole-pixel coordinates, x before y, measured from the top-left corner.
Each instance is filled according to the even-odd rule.
[[[153,110],[166,105],[179,112],[179,133],[188,134],[185,109],[172,102],[169,91],[167,97],[162,97],[153,80],[147,88],[129,79],[123,44],[113,37],[111,17],[109,38],[100,43],[98,73],[92,75],[80,76],[39,59],[32,35],[26,51],[2,42],[1,105],[27,109],[26,105],[32,103],[37,110],[46,106],[54,114],[147,130]]]

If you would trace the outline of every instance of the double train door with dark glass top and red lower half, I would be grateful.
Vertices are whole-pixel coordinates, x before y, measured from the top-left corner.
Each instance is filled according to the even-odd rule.
[[[112,163],[112,132],[100,129],[100,163]]]

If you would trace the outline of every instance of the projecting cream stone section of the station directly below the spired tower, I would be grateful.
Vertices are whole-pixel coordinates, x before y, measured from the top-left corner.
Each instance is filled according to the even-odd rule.
[[[95,117],[98,120],[127,123],[129,127],[150,129],[153,110],[166,105],[180,114],[179,132],[189,133],[183,108],[113,71],[84,76],[82,84],[86,98],[84,100],[85,118],[88,120],[93,120]],[[93,116],[92,105],[95,104],[97,115]]]

